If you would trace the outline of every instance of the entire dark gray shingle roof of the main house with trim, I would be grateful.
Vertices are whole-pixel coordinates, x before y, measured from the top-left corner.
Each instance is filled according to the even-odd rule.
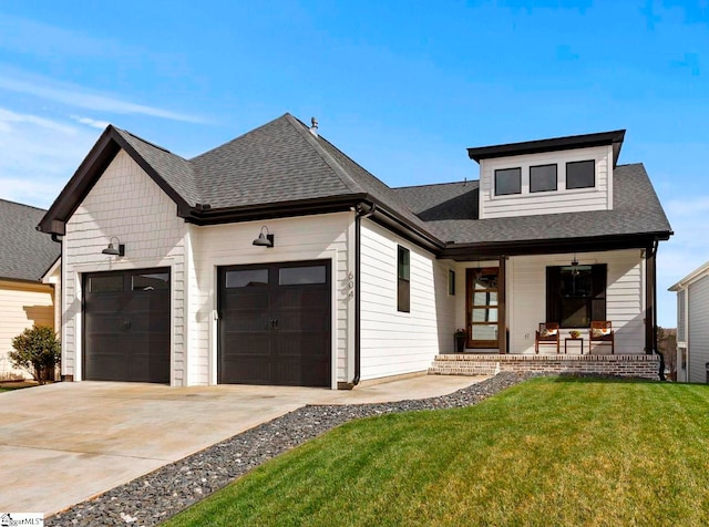
[[[613,145],[617,155],[624,134],[470,148],[469,154],[480,161]],[[604,236],[641,236],[639,246],[646,247],[648,235],[667,239],[671,234],[643,165],[615,168],[613,210],[480,220],[479,182],[392,189],[290,114],[192,159],[109,126],[40,221],[43,231],[64,234],[65,221],[121,148],[176,203],[177,215],[197,225],[347,210],[364,202],[376,206],[369,209],[376,220],[436,251],[445,244],[500,247]]]

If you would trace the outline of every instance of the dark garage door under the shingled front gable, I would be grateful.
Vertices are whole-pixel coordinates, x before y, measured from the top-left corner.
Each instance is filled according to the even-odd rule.
[[[84,379],[169,382],[169,269],[84,275]]]

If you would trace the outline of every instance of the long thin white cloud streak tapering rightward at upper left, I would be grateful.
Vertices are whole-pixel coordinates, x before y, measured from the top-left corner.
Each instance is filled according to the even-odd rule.
[[[188,123],[203,123],[202,117],[187,115],[155,106],[136,104],[122,100],[113,94],[91,92],[76,84],[54,79],[28,74],[25,72],[4,68],[0,71],[0,89],[24,95],[34,95],[72,107],[109,112],[114,114],[140,114]]]

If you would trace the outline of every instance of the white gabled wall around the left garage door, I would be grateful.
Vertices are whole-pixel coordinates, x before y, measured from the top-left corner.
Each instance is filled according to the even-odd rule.
[[[112,237],[125,256],[103,255]],[[188,230],[175,203],[129,156],[119,152],[66,221],[62,239],[62,375],[82,380],[82,292],[85,272],[171,268],[171,384],[186,384],[184,252]],[[114,240],[115,241],[115,240]]]

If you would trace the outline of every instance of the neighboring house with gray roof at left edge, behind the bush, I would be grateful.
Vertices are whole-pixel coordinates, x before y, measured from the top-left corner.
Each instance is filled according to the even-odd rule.
[[[54,327],[54,288],[40,279],[60,246],[38,232],[47,211],[0,199],[0,379],[30,374],[12,368],[12,338],[33,324]]]

